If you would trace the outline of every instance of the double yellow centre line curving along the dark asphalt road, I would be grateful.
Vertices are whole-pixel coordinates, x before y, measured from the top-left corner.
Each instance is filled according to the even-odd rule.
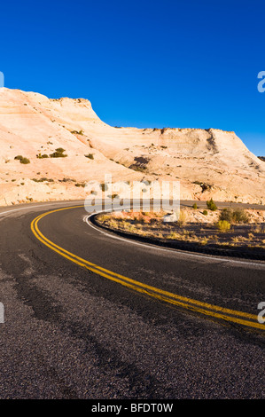
[[[111,279],[121,284],[122,286],[129,287],[131,289],[136,290],[137,292],[143,293],[145,295],[151,295],[152,297],[155,297],[167,303],[175,304],[191,311],[197,311],[202,314],[207,314],[208,316],[212,316],[217,319],[224,319],[224,320],[238,323],[247,327],[254,327],[254,328],[259,328],[259,329],[264,330],[265,328],[264,325],[257,322],[257,315],[249,314],[243,311],[234,311],[234,310],[222,308],[214,304],[199,302],[198,300],[193,300],[191,298],[184,297],[182,295],[176,295],[168,291],[162,290],[160,288],[143,284],[142,282],[136,281],[134,279],[129,279],[128,277],[125,277],[124,275],[118,274],[113,271],[109,271],[97,264],[92,264],[90,261],[87,261],[81,258],[80,256],[76,256],[72,254],[66,249],[61,248],[58,245],[56,245],[51,240],[48,240],[45,236],[43,236],[43,233],[40,232],[38,228],[38,222],[44,216],[48,216],[51,213],[55,213],[61,210],[77,209],[81,207],[83,206],[74,206],[74,207],[67,207],[64,209],[55,209],[55,210],[46,212],[43,215],[35,217],[35,219],[31,223],[31,230],[34,233],[36,239],[40,240],[45,246],[47,246],[48,248],[51,248],[53,251],[57,252],[59,255],[66,257],[66,259],[70,260],[71,262],[74,262],[74,264],[78,264],[90,271],[97,273],[98,275],[105,277],[106,279]],[[236,318],[230,317],[230,316],[227,316],[226,314],[230,314],[231,316],[237,316],[237,317]],[[256,322],[252,322],[246,319],[238,319],[238,317],[244,317],[246,319],[255,320]]]

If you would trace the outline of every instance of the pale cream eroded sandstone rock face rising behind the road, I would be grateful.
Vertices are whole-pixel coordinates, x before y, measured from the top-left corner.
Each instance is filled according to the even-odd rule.
[[[67,156],[51,157],[58,148]],[[114,128],[87,99],[0,89],[0,205],[84,198],[76,185],[105,174],[179,180],[182,199],[265,203],[265,162],[234,132]]]

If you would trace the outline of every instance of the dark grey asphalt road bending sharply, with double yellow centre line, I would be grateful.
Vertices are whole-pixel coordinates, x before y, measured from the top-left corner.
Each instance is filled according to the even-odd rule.
[[[264,398],[265,264],[36,219],[80,204],[0,209],[0,398]]]

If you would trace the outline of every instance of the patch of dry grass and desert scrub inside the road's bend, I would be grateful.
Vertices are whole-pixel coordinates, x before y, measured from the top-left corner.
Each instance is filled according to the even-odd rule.
[[[196,219],[198,211],[205,221]],[[213,218],[206,210],[181,209],[175,222],[164,222],[168,213],[121,211],[97,216],[97,222],[113,230],[158,240],[175,240],[209,247],[265,249],[265,213],[252,217],[243,209],[215,209]],[[253,210],[252,210],[253,211]],[[193,216],[192,216],[193,214]],[[202,218],[201,217],[201,218]]]

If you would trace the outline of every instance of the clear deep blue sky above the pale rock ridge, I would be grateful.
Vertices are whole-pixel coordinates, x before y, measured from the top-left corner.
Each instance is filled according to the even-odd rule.
[[[5,86],[88,98],[113,126],[234,130],[265,155],[264,0],[1,4]]]

